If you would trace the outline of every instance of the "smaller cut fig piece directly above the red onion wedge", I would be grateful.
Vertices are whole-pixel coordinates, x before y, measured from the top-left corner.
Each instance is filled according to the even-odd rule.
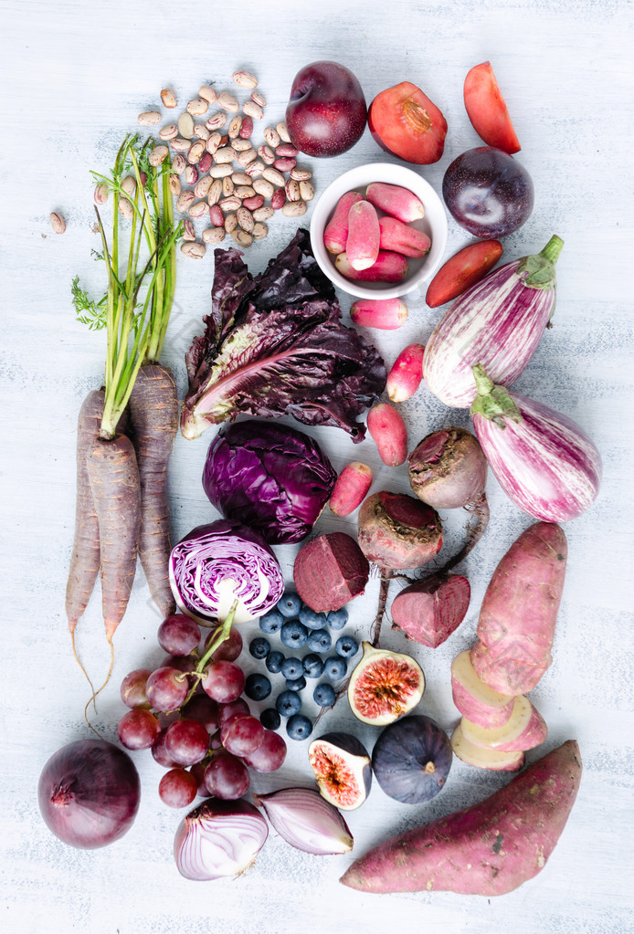
[[[309,746],[309,762],[319,793],[341,811],[354,811],[367,799],[372,767],[366,747],[352,733],[325,733]]]

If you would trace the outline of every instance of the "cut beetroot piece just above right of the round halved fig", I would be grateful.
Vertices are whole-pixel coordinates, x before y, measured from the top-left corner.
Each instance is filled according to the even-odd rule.
[[[466,577],[432,574],[405,587],[392,601],[392,621],[410,639],[436,648],[458,628],[471,596]]]

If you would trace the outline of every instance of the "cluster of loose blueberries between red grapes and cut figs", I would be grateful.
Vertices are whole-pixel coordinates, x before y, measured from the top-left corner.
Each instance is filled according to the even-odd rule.
[[[334,644],[335,655],[327,656],[333,648],[333,632],[343,630],[348,622],[345,607],[330,613],[316,613],[298,594],[287,591],[276,606],[260,617],[263,636],[256,636],[249,644],[253,658],[263,660],[268,672],[281,674],[285,679],[275,707],[267,707],[260,715],[267,729],[278,729],[281,717],[286,717],[286,733],[292,740],[304,740],[310,736],[312,722],[301,712],[300,692],[307,686],[307,678],[321,679],[313,689],[312,699],[320,707],[335,703],[336,691],[332,681],[340,681],[348,670],[348,658],[353,658],[359,644],[351,635],[340,635]],[[268,636],[278,635],[281,644],[292,652],[309,649],[303,658],[285,656],[271,646]],[[272,691],[270,678],[266,674],[250,674],[245,683],[245,694],[253,701],[264,701]]]

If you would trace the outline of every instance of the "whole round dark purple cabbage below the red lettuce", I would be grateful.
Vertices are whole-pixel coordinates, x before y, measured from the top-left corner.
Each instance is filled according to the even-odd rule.
[[[306,538],[336,479],[308,434],[252,418],[221,429],[203,469],[212,505],[223,517],[258,531],[269,545]]]

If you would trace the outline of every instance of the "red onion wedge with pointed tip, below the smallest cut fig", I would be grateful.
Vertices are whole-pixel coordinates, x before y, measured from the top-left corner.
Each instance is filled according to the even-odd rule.
[[[314,788],[281,788],[254,795],[281,838],[314,856],[348,853],[353,836],[336,807]]]

